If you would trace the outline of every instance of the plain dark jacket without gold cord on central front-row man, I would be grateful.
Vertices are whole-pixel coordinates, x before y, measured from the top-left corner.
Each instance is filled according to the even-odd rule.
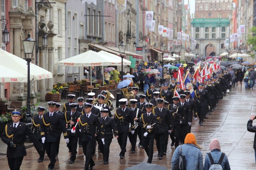
[[[99,118],[99,122],[102,128],[102,131],[104,133],[105,140],[112,139],[113,138],[113,132],[115,136],[118,136],[118,131],[115,125],[115,121],[113,118],[106,117],[106,120],[103,120],[103,117]],[[112,132],[113,130],[113,132]],[[97,139],[100,132],[97,132]]]

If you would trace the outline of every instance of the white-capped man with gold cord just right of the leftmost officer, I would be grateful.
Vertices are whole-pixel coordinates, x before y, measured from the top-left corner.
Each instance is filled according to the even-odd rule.
[[[43,147],[43,152],[37,151],[39,153],[39,159],[38,162],[43,162],[44,160],[44,154],[45,154],[45,148],[44,148],[44,143],[42,143],[42,137],[41,137],[41,132],[40,132],[40,124],[42,123],[42,116],[44,114],[46,108],[37,106],[37,112],[38,115],[34,116],[32,119],[33,122],[33,128],[34,128],[34,135],[40,142],[41,146]]]

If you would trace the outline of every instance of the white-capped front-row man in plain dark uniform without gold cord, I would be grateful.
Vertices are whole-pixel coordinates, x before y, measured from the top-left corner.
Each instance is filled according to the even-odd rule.
[[[101,111],[101,118],[99,118],[99,122],[102,128],[102,131],[104,133],[104,142],[105,144],[103,145],[103,142],[100,138],[98,138],[98,135],[100,136],[100,132],[97,132],[97,141],[99,145],[100,152],[103,154],[103,162],[104,164],[109,163],[109,148],[110,148],[110,143],[112,142],[113,139],[113,133],[118,139],[118,131],[114,122],[113,118],[110,118],[108,116],[109,109],[108,108],[103,108]],[[112,132],[113,130],[113,132]]]

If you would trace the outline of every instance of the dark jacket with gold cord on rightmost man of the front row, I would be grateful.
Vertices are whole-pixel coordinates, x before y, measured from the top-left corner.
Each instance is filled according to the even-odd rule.
[[[157,116],[153,113],[150,116],[147,116],[147,113],[141,115],[139,126],[142,128],[142,137],[143,138],[155,138],[155,128],[157,126]],[[147,125],[151,125],[151,129],[147,129]],[[144,133],[148,133],[147,136],[144,136]]]

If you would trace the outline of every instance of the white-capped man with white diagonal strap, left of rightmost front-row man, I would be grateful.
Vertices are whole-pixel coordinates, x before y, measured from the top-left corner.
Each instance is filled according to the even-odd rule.
[[[130,131],[128,133],[129,140],[131,142],[131,153],[135,153],[135,147],[136,147],[136,142],[137,142],[137,136],[138,136],[138,124],[140,122],[140,117],[141,117],[141,110],[136,107],[136,103],[138,100],[136,99],[130,99],[131,102],[131,115],[134,120],[134,134],[132,134]],[[137,126],[135,126],[137,124]],[[136,128],[136,129],[135,129]]]

